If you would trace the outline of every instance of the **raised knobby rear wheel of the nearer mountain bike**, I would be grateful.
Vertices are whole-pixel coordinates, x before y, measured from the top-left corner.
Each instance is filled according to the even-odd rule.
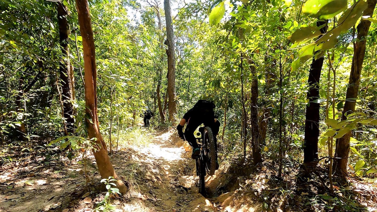
[[[204,128],[204,143],[205,143],[205,157],[206,169],[209,175],[214,175],[216,171],[216,148],[215,148],[215,138],[211,128]]]

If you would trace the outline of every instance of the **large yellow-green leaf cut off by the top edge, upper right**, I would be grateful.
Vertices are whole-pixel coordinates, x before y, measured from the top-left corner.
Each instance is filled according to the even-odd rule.
[[[302,12],[319,19],[330,19],[347,8],[347,0],[308,0]]]

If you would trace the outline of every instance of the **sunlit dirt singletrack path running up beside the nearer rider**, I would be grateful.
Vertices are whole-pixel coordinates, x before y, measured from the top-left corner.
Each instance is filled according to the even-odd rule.
[[[138,179],[137,185],[132,186],[130,201],[122,204],[123,211],[218,210],[211,200],[198,193],[195,161],[190,158],[187,144],[178,147],[177,142],[179,146],[179,138],[172,131],[160,132],[149,145],[130,150],[131,156],[123,166],[133,167],[134,171],[136,166]],[[126,155],[118,157],[123,156]],[[129,174],[130,169],[127,171]],[[127,176],[127,172],[122,174]]]

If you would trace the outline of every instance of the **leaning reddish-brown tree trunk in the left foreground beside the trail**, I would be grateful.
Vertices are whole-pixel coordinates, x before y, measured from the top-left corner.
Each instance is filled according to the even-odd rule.
[[[106,144],[100,133],[100,126],[97,114],[97,67],[95,61],[95,47],[93,40],[92,21],[90,20],[89,6],[87,0],[76,0],[78,22],[80,25],[81,36],[83,37],[84,53],[84,75],[85,75],[85,106],[86,118],[85,123],[90,139],[93,139],[96,150],[93,154],[97,162],[98,171],[101,178],[110,176],[118,179],[110,157],[107,154]],[[122,194],[127,192],[127,187],[118,179],[117,187]]]

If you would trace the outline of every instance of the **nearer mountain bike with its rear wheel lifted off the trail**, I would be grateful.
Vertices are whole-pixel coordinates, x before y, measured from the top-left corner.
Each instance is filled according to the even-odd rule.
[[[200,148],[200,155],[196,158],[196,175],[199,177],[199,193],[205,192],[205,176],[214,175],[216,171],[215,137],[209,127],[200,127],[196,138]]]

